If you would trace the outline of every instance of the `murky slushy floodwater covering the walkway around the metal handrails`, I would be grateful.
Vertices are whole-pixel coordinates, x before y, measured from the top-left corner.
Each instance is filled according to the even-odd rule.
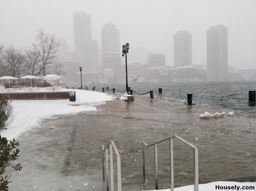
[[[23,169],[11,171],[10,190],[106,190],[101,145],[111,140],[121,156],[122,190],[152,190],[154,147],[145,150],[143,179],[142,141],[150,144],[173,135],[198,147],[199,183],[255,175],[255,116],[236,112],[199,119],[204,111],[220,112],[211,106],[143,97],[107,102],[96,113],[45,119],[18,138]],[[174,186],[193,184],[193,150],[176,139],[173,147]],[[158,145],[159,188],[169,187],[169,170],[167,141]],[[116,174],[114,179],[116,183]]]

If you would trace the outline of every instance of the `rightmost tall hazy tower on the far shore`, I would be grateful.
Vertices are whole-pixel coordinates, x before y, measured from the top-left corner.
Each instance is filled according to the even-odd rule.
[[[219,24],[207,30],[207,78],[227,80],[228,28]]]

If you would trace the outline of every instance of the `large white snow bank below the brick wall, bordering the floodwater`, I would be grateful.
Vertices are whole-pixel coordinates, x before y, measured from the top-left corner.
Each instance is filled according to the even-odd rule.
[[[63,88],[63,91],[69,90]],[[1,131],[1,136],[9,140],[16,139],[30,128],[37,126],[37,123],[43,118],[96,111],[95,105],[115,99],[112,95],[96,91],[77,89],[74,91],[76,92],[76,102],[69,100],[13,100],[15,119],[7,129]]]

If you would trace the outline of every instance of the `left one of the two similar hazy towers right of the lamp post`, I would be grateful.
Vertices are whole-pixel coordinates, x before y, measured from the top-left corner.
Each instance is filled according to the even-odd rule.
[[[192,35],[188,31],[174,34],[174,67],[192,65]]]

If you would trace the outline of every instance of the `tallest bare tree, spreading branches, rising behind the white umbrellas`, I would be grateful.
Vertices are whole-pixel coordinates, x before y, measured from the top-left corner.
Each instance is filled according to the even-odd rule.
[[[58,73],[61,71],[60,64],[57,63],[57,51],[59,42],[54,34],[47,34],[43,29],[38,31],[35,38],[37,44],[32,44],[34,51],[38,53],[41,59],[41,70],[43,75]],[[46,81],[44,81],[46,85]]]

